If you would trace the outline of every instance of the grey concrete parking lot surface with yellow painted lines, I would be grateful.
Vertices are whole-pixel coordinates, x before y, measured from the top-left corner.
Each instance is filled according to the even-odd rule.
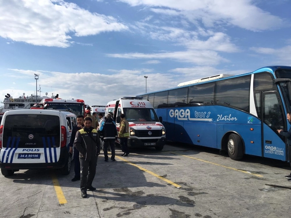
[[[93,186],[81,198],[79,181],[58,170],[0,175],[0,217],[291,217],[286,162],[169,143],[162,151],[116,146],[116,161],[98,157]],[[268,185],[266,185],[268,184]],[[282,186],[282,187],[276,187]]]

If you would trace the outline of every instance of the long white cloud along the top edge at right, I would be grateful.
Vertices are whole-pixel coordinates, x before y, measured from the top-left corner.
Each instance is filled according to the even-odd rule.
[[[130,6],[148,6],[156,13],[183,15],[190,22],[202,21],[205,26],[227,24],[251,31],[279,28],[284,21],[264,11],[251,0],[119,0]]]

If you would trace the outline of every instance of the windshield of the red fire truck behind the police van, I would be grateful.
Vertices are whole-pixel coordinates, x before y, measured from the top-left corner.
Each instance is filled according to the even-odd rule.
[[[60,102],[49,102],[44,109],[53,109],[53,110],[69,110],[74,113],[76,116],[84,114],[84,103],[60,103]]]

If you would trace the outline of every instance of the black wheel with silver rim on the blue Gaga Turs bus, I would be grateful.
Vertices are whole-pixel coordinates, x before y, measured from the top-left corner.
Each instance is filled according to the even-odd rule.
[[[237,134],[230,134],[227,143],[228,156],[233,160],[240,160],[244,155],[243,143]]]

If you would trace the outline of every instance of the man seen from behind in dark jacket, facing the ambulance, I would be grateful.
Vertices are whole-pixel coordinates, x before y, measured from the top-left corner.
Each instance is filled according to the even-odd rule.
[[[105,161],[108,161],[108,146],[111,148],[111,160],[115,161],[115,140],[117,139],[117,130],[110,113],[106,115],[106,119],[101,124],[100,135],[104,143]]]

